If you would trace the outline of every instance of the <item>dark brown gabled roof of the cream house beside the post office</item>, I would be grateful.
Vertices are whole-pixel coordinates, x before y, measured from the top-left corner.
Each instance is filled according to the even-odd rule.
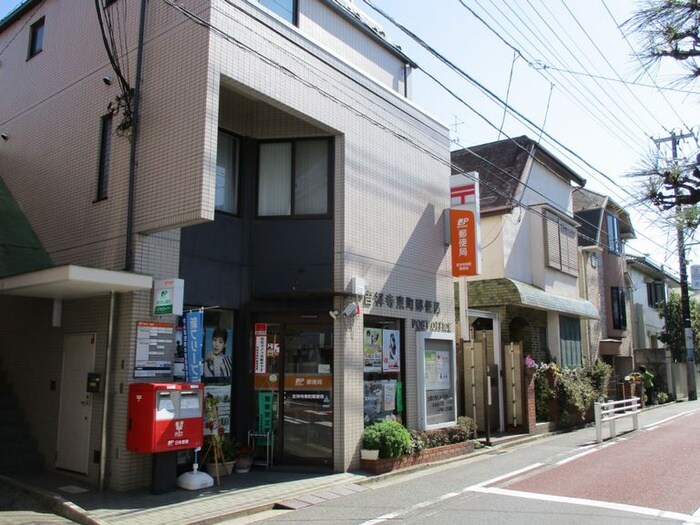
[[[529,170],[526,168],[531,159],[568,182],[579,186],[586,184],[584,178],[525,135],[453,151],[451,158],[453,174],[479,173],[482,214],[503,213],[516,205],[527,185]]]

